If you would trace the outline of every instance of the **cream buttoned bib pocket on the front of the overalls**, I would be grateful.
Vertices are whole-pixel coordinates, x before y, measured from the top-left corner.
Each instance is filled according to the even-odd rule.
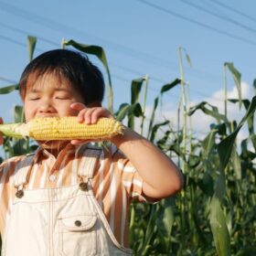
[[[65,256],[96,254],[96,214],[59,219],[59,253]]]

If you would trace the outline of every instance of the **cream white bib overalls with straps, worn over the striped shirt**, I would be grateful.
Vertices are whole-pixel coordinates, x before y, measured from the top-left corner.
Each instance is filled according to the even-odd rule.
[[[26,189],[30,166],[14,176],[17,189],[3,238],[2,256],[131,255],[112,234],[93,196],[91,178],[98,149],[87,149],[80,184]]]

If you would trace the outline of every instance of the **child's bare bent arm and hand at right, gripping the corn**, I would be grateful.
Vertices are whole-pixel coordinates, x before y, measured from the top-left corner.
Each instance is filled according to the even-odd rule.
[[[99,106],[85,108],[81,103],[73,103],[71,108],[80,111],[80,123],[96,123],[100,117],[112,117],[110,112]],[[112,137],[110,141],[126,155],[144,179],[143,192],[146,197],[168,197],[183,187],[183,176],[177,166],[140,134],[124,127],[123,134]],[[73,140],[71,143],[84,142]]]

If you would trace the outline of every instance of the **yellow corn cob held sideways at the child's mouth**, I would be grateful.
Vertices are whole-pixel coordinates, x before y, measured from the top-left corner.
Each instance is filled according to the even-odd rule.
[[[28,123],[0,124],[6,136],[30,137],[37,141],[107,139],[122,133],[123,126],[111,118],[100,118],[97,123],[78,123],[77,117],[40,117]]]

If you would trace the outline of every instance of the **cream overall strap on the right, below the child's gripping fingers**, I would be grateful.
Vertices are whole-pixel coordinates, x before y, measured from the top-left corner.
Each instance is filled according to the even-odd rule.
[[[85,181],[93,177],[93,171],[97,159],[101,155],[101,148],[87,148],[82,156],[82,163],[78,170],[78,176],[85,178]]]

